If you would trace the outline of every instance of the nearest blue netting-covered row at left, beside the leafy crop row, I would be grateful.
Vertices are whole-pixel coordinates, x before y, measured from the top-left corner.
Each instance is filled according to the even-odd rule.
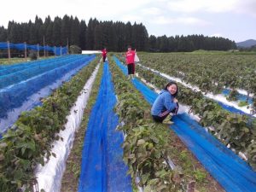
[[[70,57],[70,60],[66,57]],[[52,89],[68,81],[82,67],[88,65],[95,55],[66,57],[61,62],[61,66],[0,90],[0,133],[6,131],[15,122],[20,114],[20,108],[29,110],[39,105],[39,98],[49,96]]]

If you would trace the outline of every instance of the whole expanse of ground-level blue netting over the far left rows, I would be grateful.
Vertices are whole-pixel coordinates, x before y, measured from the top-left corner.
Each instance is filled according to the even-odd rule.
[[[4,71],[4,75],[0,74],[0,84],[2,82],[4,84],[2,85],[5,86],[0,89],[0,133],[6,131],[14,123],[14,116],[16,116],[16,119],[18,118],[20,113],[15,112],[16,108],[20,108],[24,102],[27,102],[27,108],[23,108],[24,110],[30,110],[40,105],[39,98],[49,96],[51,92],[51,89],[46,89],[47,87],[55,84],[54,87],[57,88],[63,81],[71,79],[75,73],[78,73],[82,67],[88,65],[95,57],[96,55],[67,55],[56,59],[27,62],[0,68],[0,73]],[[52,68],[55,64],[58,67]],[[47,70],[40,71],[40,66],[44,66]],[[9,76],[13,77],[14,74],[19,74],[19,79],[14,84],[3,81],[3,79],[9,79]],[[57,80],[59,81],[56,84]],[[44,90],[44,92],[41,90]],[[35,101],[35,97],[32,100],[29,99],[30,96],[36,93],[38,93],[38,100]],[[12,117],[9,120],[8,114],[10,112],[12,112]],[[3,119],[6,121],[4,125],[1,123]]]

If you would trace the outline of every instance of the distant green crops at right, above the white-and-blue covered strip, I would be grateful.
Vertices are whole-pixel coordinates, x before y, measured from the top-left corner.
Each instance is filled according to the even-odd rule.
[[[224,87],[256,93],[254,55],[140,54],[143,65],[220,93]]]

